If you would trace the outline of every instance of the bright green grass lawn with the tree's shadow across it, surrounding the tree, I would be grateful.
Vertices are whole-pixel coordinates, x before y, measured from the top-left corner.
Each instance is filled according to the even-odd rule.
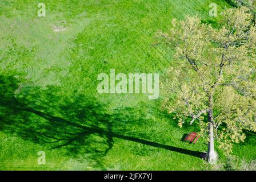
[[[40,1],[41,2],[41,1]],[[210,0],[0,2],[0,169],[204,170],[198,156],[206,139],[182,142],[195,126],[180,129],[145,94],[97,93],[97,76],[160,73],[170,50],[154,46],[154,34],[172,18],[219,13],[229,5]],[[54,32],[54,26],[65,27]],[[255,158],[255,136],[234,154]],[[37,163],[38,151],[46,164]],[[221,154],[221,152],[220,152]],[[246,155],[245,155],[246,154]],[[221,159],[225,156],[220,155]]]

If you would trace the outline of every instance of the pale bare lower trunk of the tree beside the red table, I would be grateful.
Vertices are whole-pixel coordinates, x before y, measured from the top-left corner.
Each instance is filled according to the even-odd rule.
[[[217,161],[217,155],[214,151],[214,133],[212,122],[209,122],[209,143],[206,157],[210,164],[214,164]]]

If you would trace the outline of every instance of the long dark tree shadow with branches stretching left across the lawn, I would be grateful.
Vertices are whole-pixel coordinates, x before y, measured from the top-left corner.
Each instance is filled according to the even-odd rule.
[[[53,149],[65,148],[69,157],[91,160],[94,167],[105,169],[101,158],[113,147],[113,138],[199,158],[203,154],[143,139],[145,134],[130,128],[146,123],[145,113],[131,107],[108,110],[95,98],[63,97],[55,86],[26,87],[15,96],[17,90],[15,78],[0,76],[0,129]]]

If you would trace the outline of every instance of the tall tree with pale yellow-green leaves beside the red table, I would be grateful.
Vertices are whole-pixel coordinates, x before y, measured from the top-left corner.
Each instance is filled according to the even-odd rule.
[[[209,137],[207,160],[217,160],[214,139],[224,152],[256,131],[256,27],[249,9],[227,9],[219,27],[197,16],[173,19],[159,43],[174,49],[162,82],[163,106],[184,122],[197,123]]]

